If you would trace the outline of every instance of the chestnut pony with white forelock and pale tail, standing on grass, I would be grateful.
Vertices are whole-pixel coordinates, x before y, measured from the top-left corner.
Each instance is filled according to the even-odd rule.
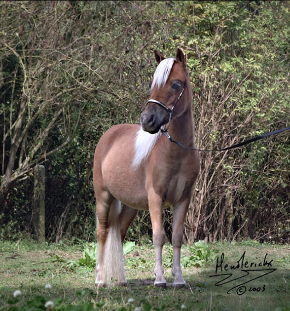
[[[181,242],[199,173],[199,155],[172,144],[168,131],[174,140],[195,148],[192,91],[181,49],[177,49],[175,58],[165,58],[157,50],[154,55],[158,66],[150,82],[150,99],[141,114],[141,124],[112,126],[99,140],[94,154],[97,287],[127,284],[123,241],[138,210],[149,210],[155,248],[154,285],[166,288],[162,209],[168,206],[173,210],[173,286],[186,284],[181,272]]]

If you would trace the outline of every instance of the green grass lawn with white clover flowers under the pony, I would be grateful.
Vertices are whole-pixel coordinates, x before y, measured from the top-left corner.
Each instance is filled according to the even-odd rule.
[[[134,311],[138,307],[141,309],[136,310],[175,311],[181,310],[182,305],[182,310],[193,311],[290,311],[289,245],[259,244],[255,241],[210,244],[204,251],[208,255],[200,264],[194,258],[194,248],[183,245],[181,257],[185,267],[182,271],[188,285],[184,289],[175,289],[171,286],[172,246],[165,244],[166,290],[152,285],[155,263],[151,244],[135,245],[125,256],[127,287],[99,289],[94,286],[94,271],[72,270],[66,264],[71,260],[79,261],[86,247],[85,244],[0,241],[0,310],[49,310],[44,303],[53,301],[54,310],[59,311]],[[227,294],[230,288],[242,281],[216,286],[215,283],[222,278],[210,275],[216,272],[217,256],[220,261],[221,253],[224,253],[223,265],[236,266],[244,252],[245,261],[249,263],[263,263],[265,254],[268,254],[266,260],[273,260],[272,268],[277,270],[245,284],[247,290],[243,295],[237,295],[236,289]],[[243,275],[241,269],[231,272],[235,277]],[[259,273],[251,272],[251,277],[259,276]],[[45,284],[50,284],[51,289],[45,289]],[[15,290],[21,290],[22,295],[14,298]],[[134,301],[128,302],[130,298]]]

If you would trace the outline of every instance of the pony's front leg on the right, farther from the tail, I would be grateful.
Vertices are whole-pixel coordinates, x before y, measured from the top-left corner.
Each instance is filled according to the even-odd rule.
[[[172,275],[174,276],[173,285],[176,287],[184,287],[185,281],[181,272],[181,243],[183,236],[183,223],[185,215],[189,206],[189,201],[183,201],[173,209],[173,232],[172,232],[172,245],[173,245],[173,267]]]

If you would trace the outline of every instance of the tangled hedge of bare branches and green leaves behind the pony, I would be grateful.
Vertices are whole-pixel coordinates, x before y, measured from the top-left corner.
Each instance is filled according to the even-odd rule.
[[[200,149],[289,126],[288,1],[1,1],[0,238],[33,235],[33,168],[46,168],[49,240],[95,238],[92,158],[139,123],[156,68],[180,47]],[[289,134],[200,153],[184,240],[290,242]],[[164,225],[171,235],[171,212]],[[128,238],[151,238],[139,212]]]

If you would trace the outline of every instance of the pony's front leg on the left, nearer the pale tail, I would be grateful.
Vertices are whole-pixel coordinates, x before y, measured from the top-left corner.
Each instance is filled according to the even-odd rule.
[[[157,194],[151,194],[148,197],[149,213],[153,230],[153,244],[155,247],[155,281],[154,285],[166,288],[166,280],[162,267],[162,248],[165,243],[166,235],[162,224],[162,200]]]

